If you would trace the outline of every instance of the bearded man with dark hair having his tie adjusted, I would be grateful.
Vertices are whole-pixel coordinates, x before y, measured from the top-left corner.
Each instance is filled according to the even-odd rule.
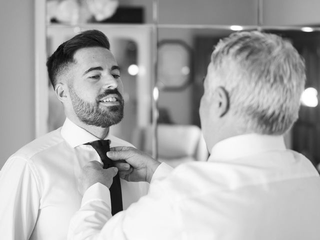
[[[1,239],[66,239],[70,218],[81,204],[76,180],[82,166],[92,160],[112,166],[100,146],[132,146],[109,134],[109,127],[123,117],[123,85],[109,48],[102,32],[87,30],[48,58],[48,75],[66,119],[2,167]],[[118,175],[113,182],[112,214],[147,193],[145,182],[127,182]]]

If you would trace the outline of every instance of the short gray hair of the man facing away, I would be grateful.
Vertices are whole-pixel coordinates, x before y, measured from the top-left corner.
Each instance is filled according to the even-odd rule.
[[[279,135],[292,126],[305,72],[288,40],[258,31],[235,32],[218,42],[211,61],[220,76],[211,79],[211,86],[227,90],[230,111],[245,122],[246,131]]]

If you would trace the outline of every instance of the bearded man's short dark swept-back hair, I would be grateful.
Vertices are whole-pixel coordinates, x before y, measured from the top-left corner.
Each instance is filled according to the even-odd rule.
[[[109,40],[101,31],[82,31],[58,46],[46,61],[49,79],[53,88],[55,88],[57,75],[63,72],[63,69],[65,69],[68,64],[74,63],[74,53],[78,49],[94,46],[110,49]]]

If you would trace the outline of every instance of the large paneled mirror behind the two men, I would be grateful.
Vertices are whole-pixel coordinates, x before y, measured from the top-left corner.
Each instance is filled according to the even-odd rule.
[[[312,2],[314,3],[314,1]],[[156,151],[155,146],[158,146],[160,153],[163,149],[167,151],[167,146],[163,145],[160,140],[161,132],[168,130],[168,134],[173,136],[179,133],[174,134],[174,129],[170,128],[172,126],[200,126],[198,106],[203,92],[202,79],[206,74],[212,47],[219,38],[227,36],[234,30],[260,29],[291,39],[294,46],[306,59],[306,87],[319,89],[317,83],[319,76],[316,69],[318,66],[319,48],[317,42],[320,29],[310,28],[312,23],[314,25],[318,22],[316,18],[318,14],[314,14],[315,3],[312,5],[311,0],[307,0],[303,3],[303,8],[299,7],[299,4],[291,4],[290,0],[283,0],[280,3],[276,0],[244,0],[241,3],[236,0],[199,0],[196,2],[185,0],[174,2],[169,0],[123,0],[121,6],[124,8],[140,7],[143,9],[143,23],[146,24],[92,21],[75,25],[54,24],[52,22],[45,25],[41,23],[43,18],[46,17],[43,13],[45,4],[36,0],[36,5],[42,6],[42,8],[39,7],[36,10],[36,41],[39,43],[37,44],[39,48],[36,50],[36,57],[43,61],[46,56],[45,51],[41,52],[41,49],[45,49],[45,45],[41,45],[46,42],[42,38],[45,34],[47,34],[47,45],[56,46],[57,42],[54,43],[54,40],[50,37],[53,31],[56,31],[54,34],[56,39],[59,38],[59,43],[79,30],[96,28],[105,31],[106,35],[111,38],[111,49],[114,50],[119,64],[128,64],[126,60],[132,59],[132,61],[137,62],[139,69],[135,76],[126,75],[122,77],[124,87],[128,89],[126,92],[128,103],[123,125],[121,123],[119,126],[114,126],[114,131],[123,139],[133,139],[131,142],[135,146],[142,150],[147,149],[150,153],[154,153]],[[157,13],[157,15],[153,13]],[[42,21],[41,18],[37,18],[41,16],[43,17]],[[301,28],[304,25],[309,26],[309,29]],[[309,30],[313,32],[306,32]],[[121,57],[123,54],[128,54],[124,53],[126,45],[134,46],[136,49],[128,59]],[[156,45],[158,45],[157,49]],[[172,51],[175,54],[172,54]],[[156,64],[153,64],[155,62],[153,53],[156,53],[158,63],[156,88],[153,91],[153,98],[156,100],[154,102],[152,102],[152,88],[155,84],[153,67]],[[179,74],[174,71],[168,73],[166,64],[178,66],[179,70],[177,72]],[[46,90],[47,92],[45,92],[41,89],[48,89],[47,84],[45,83],[45,86],[42,86],[39,80],[46,77],[46,72],[41,70],[42,68],[45,69],[45,66],[38,60],[37,67],[37,99],[46,99],[49,91]],[[172,78],[174,74],[176,76]],[[172,79],[176,79],[176,81]],[[166,87],[166,85],[169,86]],[[313,90],[312,92],[313,102],[317,101],[317,95]],[[52,105],[48,105],[49,107],[39,101],[37,101],[37,104],[36,135],[38,136],[48,130],[47,111],[52,108],[54,103],[50,103]],[[158,108],[155,109],[155,106]],[[312,160],[314,165],[320,162],[320,153],[315,146],[317,135],[319,135],[317,134],[316,123],[318,122],[318,108],[318,105],[315,107],[301,106],[300,118],[292,131],[286,136],[287,146],[304,153]],[[131,117],[134,118],[132,122],[125,122],[126,119]],[[158,123],[157,127],[163,129],[163,131],[159,129],[155,131],[155,123]],[[58,125],[53,122],[49,124],[53,125],[50,126],[51,128]],[[123,129],[123,131],[121,132],[120,129]],[[186,132],[186,130],[180,130],[180,132],[183,131]],[[146,137],[143,136],[145,132],[148,132]],[[187,137],[187,134],[182,134],[182,137]],[[174,138],[172,137],[172,139]],[[165,139],[167,142],[170,142],[169,140]],[[143,145],[143,141],[147,146]],[[158,141],[157,144],[154,144],[156,141]],[[179,146],[176,149],[179,150],[174,152],[175,155],[171,155],[171,158],[182,154],[183,150]],[[161,154],[158,154],[158,156],[161,158]]]

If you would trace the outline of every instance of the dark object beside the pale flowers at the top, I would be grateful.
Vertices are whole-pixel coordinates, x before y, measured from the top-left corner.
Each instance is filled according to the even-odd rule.
[[[107,19],[92,22],[97,23],[144,23],[143,7],[125,7],[119,6],[115,13]]]

